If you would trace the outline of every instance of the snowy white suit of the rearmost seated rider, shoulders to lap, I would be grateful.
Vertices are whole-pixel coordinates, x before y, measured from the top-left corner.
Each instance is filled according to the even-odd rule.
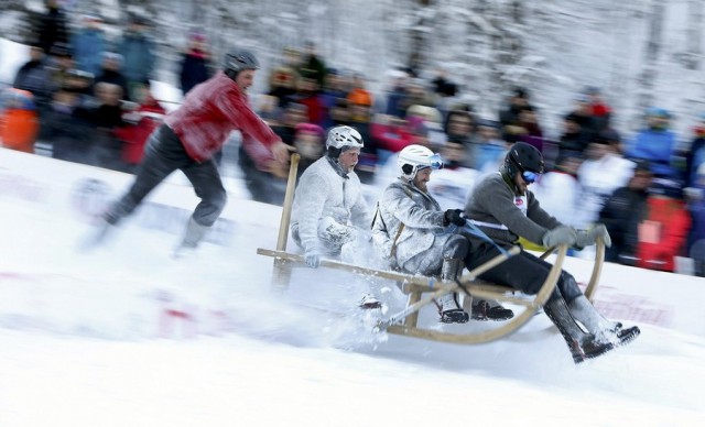
[[[371,222],[362,185],[323,156],[301,176],[291,217],[292,238],[307,254],[338,255],[344,244],[364,239]],[[364,231],[365,230],[365,231]]]

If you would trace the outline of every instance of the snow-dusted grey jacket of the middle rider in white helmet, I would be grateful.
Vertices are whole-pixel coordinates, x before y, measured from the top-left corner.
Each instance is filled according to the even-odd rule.
[[[399,179],[384,189],[379,201],[372,222],[372,242],[392,266],[431,274],[417,270],[423,258],[443,259],[443,245],[452,236],[444,233],[443,222],[444,211],[431,195]],[[392,254],[394,239],[397,248]]]

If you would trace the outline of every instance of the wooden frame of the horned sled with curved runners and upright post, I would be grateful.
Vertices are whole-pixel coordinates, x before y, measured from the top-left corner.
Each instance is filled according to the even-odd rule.
[[[305,265],[305,258],[303,255],[286,252],[286,242],[289,238],[289,226],[291,221],[291,209],[294,198],[294,189],[296,186],[299,160],[299,154],[292,154],[291,167],[289,171],[289,182],[286,185],[286,193],[284,195],[284,204],[282,207],[279,238],[276,241],[276,250],[268,250],[262,248],[258,248],[257,250],[257,253],[260,255],[274,258],[272,287],[278,291],[283,291],[289,286],[294,266]],[[567,253],[567,247],[551,248],[541,255],[541,259],[545,260],[556,250],[557,254],[553,262],[553,267],[549,272],[549,276],[543,283],[541,289],[533,296],[524,295],[524,297],[517,296],[519,292],[514,288],[490,284],[487,282],[478,281],[476,278],[479,274],[500,264],[509,256],[519,253],[520,249],[518,247],[512,248],[509,251],[509,254],[498,255],[474,269],[473,271],[463,274],[463,276],[458,278],[457,283],[449,284],[441,282],[437,277],[404,274],[389,270],[370,269],[326,259],[321,260],[321,267],[364,274],[370,277],[392,280],[397,281],[398,284],[400,284],[402,292],[409,295],[408,306],[404,310],[381,320],[379,324],[380,329],[384,329],[389,333],[422,338],[433,341],[474,344],[494,341],[517,331],[524,324],[527,324],[541,307],[543,307],[543,305],[551,296],[551,293],[555,288],[557,280],[561,275],[563,261],[565,260]],[[601,240],[598,240],[595,252],[595,264],[593,266],[593,273],[585,291],[585,295],[588,299],[592,299],[595,292],[597,291],[597,285],[604,263],[604,256],[605,245]],[[494,322],[495,325],[497,325],[497,327],[490,328],[489,330],[456,333],[438,329],[420,328],[417,326],[419,310],[429,304],[433,304],[433,300],[435,298],[438,298],[440,296],[443,296],[451,292],[459,292],[459,285],[467,289],[474,297],[482,299],[495,299],[518,306],[523,306],[524,310],[516,315],[510,320],[503,322]],[[470,321],[468,325],[471,324],[473,321]]]

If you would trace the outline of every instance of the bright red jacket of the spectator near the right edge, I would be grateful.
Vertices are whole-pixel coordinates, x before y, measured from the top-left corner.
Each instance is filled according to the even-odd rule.
[[[651,196],[647,209],[649,214],[646,221],[655,225],[658,236],[655,241],[641,237],[637,265],[672,272],[675,269],[674,256],[680,255],[691,229],[691,216],[683,201],[670,198]]]

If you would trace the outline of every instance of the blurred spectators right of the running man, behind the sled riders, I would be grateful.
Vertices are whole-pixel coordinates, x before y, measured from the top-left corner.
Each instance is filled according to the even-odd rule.
[[[316,129],[311,141],[319,145],[300,149],[300,174],[323,155],[322,132],[335,124],[362,134],[358,175],[377,188],[394,178],[395,153],[409,144],[430,146],[446,161],[429,184],[444,208],[463,206],[477,177],[498,171],[509,145],[527,142],[546,158],[532,189],[565,223],[606,223],[615,243],[608,261],[674,272],[686,269],[679,260],[692,258],[695,273],[705,274],[705,117],[686,144],[681,140],[691,135],[676,135],[662,108],[644,111],[642,129],[622,135],[600,89],[587,87],[576,90],[560,134],[550,138],[527,88],[514,88],[487,118],[460,101],[463,88],[443,72],[427,77],[398,69],[390,76],[383,94],[372,94],[365,76],[327,64],[315,46],[289,48],[257,107],[288,144],[300,146],[299,138]],[[281,204],[285,171],[257,171],[247,158],[241,151],[252,197]]]

